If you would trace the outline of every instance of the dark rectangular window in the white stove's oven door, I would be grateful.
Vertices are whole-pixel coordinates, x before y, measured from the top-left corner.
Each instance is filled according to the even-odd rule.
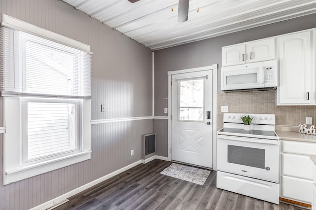
[[[260,169],[265,168],[265,150],[228,145],[228,162]]]

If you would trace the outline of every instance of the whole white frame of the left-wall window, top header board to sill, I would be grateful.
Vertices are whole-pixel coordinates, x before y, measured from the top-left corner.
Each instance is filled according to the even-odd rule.
[[[16,18],[10,17],[8,15],[2,14],[1,26],[18,30],[21,32],[26,32],[32,35],[37,35],[41,38],[55,41],[57,43],[66,45],[68,47],[81,50],[92,55],[91,47],[87,44],[81,43],[69,37],[56,34],[54,32],[47,31],[38,26],[26,23],[24,21],[18,20]],[[2,40],[0,40],[2,41]],[[17,51],[16,46],[14,47],[14,53],[20,53]],[[14,59],[14,65],[19,66],[19,61]],[[79,65],[83,65],[81,62]],[[91,63],[89,63],[91,65]],[[21,72],[19,69],[14,68],[14,78],[16,81],[19,80]],[[21,75],[22,76],[22,75]],[[81,79],[81,78],[80,78]],[[15,85],[22,85],[14,83]],[[91,83],[89,83],[89,88],[91,88]],[[62,157],[55,157],[51,159],[46,159],[40,162],[33,162],[31,164],[23,165],[22,158],[22,138],[23,138],[23,122],[22,113],[23,111],[23,97],[35,97],[47,99],[49,98],[60,99],[62,101],[67,100],[78,100],[81,103],[80,110],[78,112],[79,119],[79,142],[80,149],[76,153],[65,153]],[[21,93],[2,93],[2,105],[3,105],[3,126],[6,127],[6,133],[3,134],[3,185],[23,180],[35,175],[40,175],[47,173],[49,171],[54,171],[63,167],[67,167],[85,160],[91,159],[91,125],[90,125],[90,106],[91,97],[68,97],[68,96],[51,96],[45,94],[32,94],[23,95]],[[33,100],[33,99],[32,99]]]

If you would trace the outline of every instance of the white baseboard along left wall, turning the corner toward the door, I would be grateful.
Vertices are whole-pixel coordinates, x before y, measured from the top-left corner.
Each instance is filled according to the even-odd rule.
[[[86,189],[88,189],[88,188],[90,188],[90,187],[102,182],[102,181],[105,181],[105,180],[107,180],[107,179],[109,179],[109,178],[111,178],[111,177],[113,177],[115,175],[118,175],[118,174],[120,174],[120,173],[122,173],[124,171],[127,171],[127,170],[133,168],[134,166],[137,166],[137,165],[139,165],[141,163],[143,163],[143,164],[149,163],[149,162],[151,162],[151,161],[153,161],[155,159],[168,161],[167,157],[158,156],[158,155],[154,155],[154,156],[152,156],[150,158],[147,158],[145,160],[142,159],[142,160],[136,161],[136,162],[134,162],[134,163],[132,163],[132,164],[130,164],[128,166],[125,166],[125,167],[123,167],[121,169],[118,169],[115,172],[112,172],[112,173],[110,173],[108,175],[102,176],[102,177],[100,177],[98,179],[95,179],[95,180],[93,180],[93,181],[91,181],[91,182],[89,182],[87,184],[84,184],[84,185],[82,185],[82,186],[80,186],[80,187],[78,187],[78,188],[76,188],[76,189],[74,189],[72,191],[69,191],[69,192],[67,192],[67,193],[65,193],[65,194],[63,194],[61,196],[58,196],[58,197],[56,197],[56,198],[54,198],[54,199],[52,199],[50,201],[47,201],[47,202],[45,202],[43,204],[40,204],[39,206],[36,206],[36,207],[34,207],[34,208],[30,209],[30,210],[45,210],[45,209],[49,209],[50,207],[58,204],[59,202],[61,202],[63,200],[66,200],[67,198],[70,198],[70,197],[78,194],[79,192],[82,192],[82,191],[84,191],[84,190],[86,190]]]

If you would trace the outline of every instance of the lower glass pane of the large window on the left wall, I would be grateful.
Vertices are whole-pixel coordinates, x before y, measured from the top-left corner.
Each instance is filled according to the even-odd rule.
[[[76,104],[28,103],[28,160],[75,150]]]

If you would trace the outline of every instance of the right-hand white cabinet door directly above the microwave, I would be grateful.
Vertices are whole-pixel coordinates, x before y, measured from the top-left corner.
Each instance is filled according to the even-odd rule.
[[[249,42],[246,52],[248,63],[273,60],[276,58],[275,38]]]

